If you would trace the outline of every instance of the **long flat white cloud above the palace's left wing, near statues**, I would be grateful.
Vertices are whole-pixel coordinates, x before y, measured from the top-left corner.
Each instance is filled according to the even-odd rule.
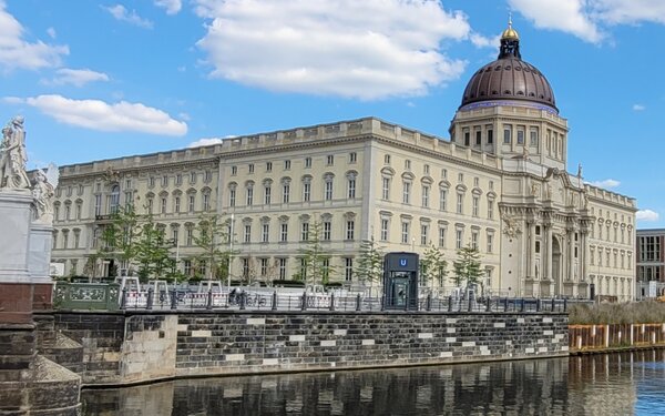
[[[17,98],[4,101],[18,102]],[[81,128],[141,132],[163,135],[184,135],[187,124],[172,119],[167,113],[141,103],[120,101],[109,104],[101,100],[72,100],[62,95],[38,95],[20,102],[39,109],[61,123]]]

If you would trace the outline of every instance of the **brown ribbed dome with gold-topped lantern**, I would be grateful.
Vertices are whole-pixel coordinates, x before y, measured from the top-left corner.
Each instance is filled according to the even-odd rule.
[[[499,58],[471,77],[464,89],[460,109],[481,102],[513,101],[534,104],[559,112],[550,82],[541,71],[522,61],[520,37],[509,23],[501,35]]]

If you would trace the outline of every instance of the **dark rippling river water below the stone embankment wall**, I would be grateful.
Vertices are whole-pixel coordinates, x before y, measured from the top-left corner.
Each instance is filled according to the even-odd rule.
[[[83,415],[665,415],[665,351],[84,389]]]

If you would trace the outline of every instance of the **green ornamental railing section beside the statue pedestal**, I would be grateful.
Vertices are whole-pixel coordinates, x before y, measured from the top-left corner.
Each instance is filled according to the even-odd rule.
[[[115,283],[61,283],[53,288],[57,310],[117,311],[120,285]]]

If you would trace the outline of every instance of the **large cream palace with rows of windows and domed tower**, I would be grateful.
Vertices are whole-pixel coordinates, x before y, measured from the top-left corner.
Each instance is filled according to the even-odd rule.
[[[316,222],[332,280],[357,281],[360,243],[374,237],[386,252],[433,244],[450,268],[457,248],[478,247],[493,293],[630,300],[635,200],[569,173],[567,140],[550,83],[509,26],[498,59],[469,81],[450,140],[367,118],[63,166],[53,257],[83,273],[109,213],[134,204],[177,241],[185,273],[200,214],[216,212],[234,219],[235,276],[290,278]]]

